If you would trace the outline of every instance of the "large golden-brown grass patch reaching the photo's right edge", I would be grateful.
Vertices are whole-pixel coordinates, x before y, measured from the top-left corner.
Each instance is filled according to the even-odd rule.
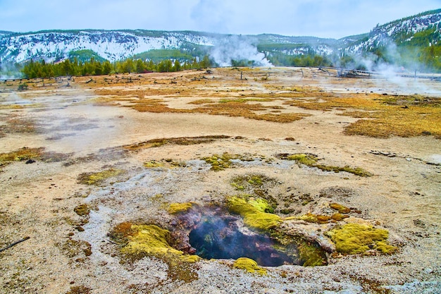
[[[383,138],[441,135],[440,98],[383,94],[323,95],[319,98],[294,99],[285,104],[311,110],[338,109],[344,111],[344,116],[367,118],[347,126],[344,130],[347,135]]]

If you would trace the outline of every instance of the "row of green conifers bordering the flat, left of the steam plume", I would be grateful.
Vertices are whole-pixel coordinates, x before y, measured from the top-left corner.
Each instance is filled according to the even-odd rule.
[[[78,61],[66,59],[58,63],[46,63],[46,61],[30,61],[22,68],[25,78],[54,78],[66,75],[108,75],[111,73],[149,73],[149,72],[174,72],[184,71],[195,68],[209,68],[211,61],[208,56],[198,61],[194,58],[192,61],[181,63],[176,59],[162,60],[159,62],[145,61],[142,59],[125,59],[124,61],[97,61],[93,57],[89,61]]]

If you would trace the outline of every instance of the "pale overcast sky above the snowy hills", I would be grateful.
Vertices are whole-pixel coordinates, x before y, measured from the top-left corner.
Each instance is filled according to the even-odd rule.
[[[198,30],[341,38],[441,0],[0,0],[0,30]]]

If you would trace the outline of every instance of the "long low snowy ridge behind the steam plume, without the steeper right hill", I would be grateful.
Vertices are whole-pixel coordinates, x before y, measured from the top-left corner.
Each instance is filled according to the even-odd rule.
[[[180,49],[192,51],[206,48],[218,64],[230,59],[249,59],[267,64],[265,54],[258,52],[259,44],[267,44],[272,51],[298,55],[330,54],[335,39],[317,37],[287,37],[280,35],[222,35],[206,32],[159,32],[148,30],[78,30],[44,31],[5,35],[0,39],[0,63],[20,63],[30,59],[46,62],[68,58],[71,51],[89,49],[109,61],[126,59],[152,49]],[[277,44],[295,44],[294,49],[278,48]],[[264,50],[262,50],[264,51]]]

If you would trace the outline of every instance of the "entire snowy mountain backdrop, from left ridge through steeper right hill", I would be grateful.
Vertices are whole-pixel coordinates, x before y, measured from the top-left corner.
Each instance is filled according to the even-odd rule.
[[[126,59],[151,49],[179,49],[195,56],[201,49],[217,59],[259,61],[277,54],[302,55],[360,54],[363,51],[411,39],[412,34],[435,27],[441,32],[441,9],[378,25],[370,33],[323,39],[282,35],[222,35],[206,32],[168,32],[151,30],[73,30],[13,33],[0,31],[0,63],[40,60],[61,61],[71,51],[89,49],[109,61]],[[196,54],[197,55],[197,54]]]

